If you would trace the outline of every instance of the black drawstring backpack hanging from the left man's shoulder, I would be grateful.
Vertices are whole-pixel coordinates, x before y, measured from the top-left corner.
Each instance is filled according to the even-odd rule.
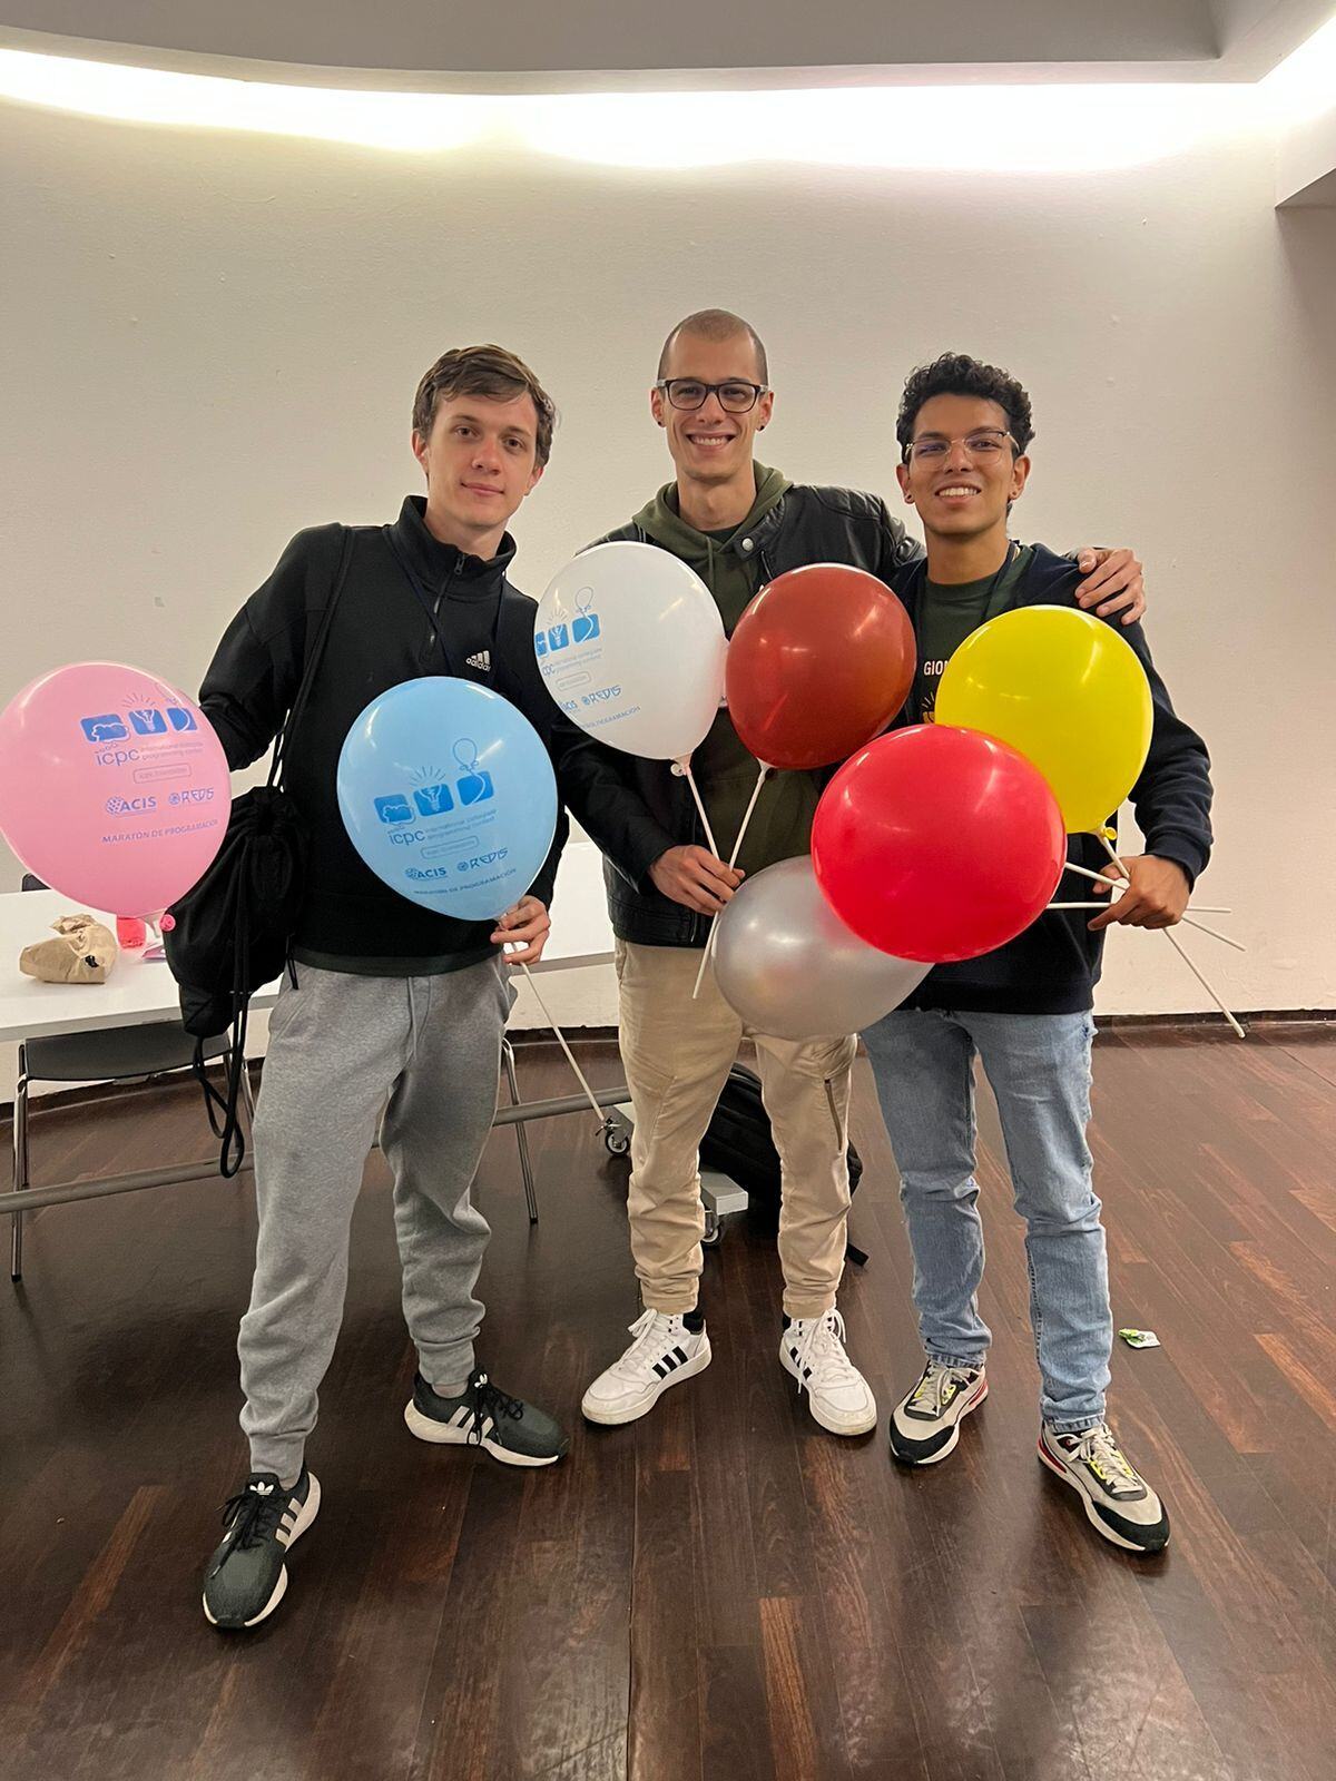
[[[346,529],[338,570],[301,686],[274,741],[269,778],[233,798],[223,846],[203,878],[171,907],[175,926],[162,935],[167,965],[180,988],[182,1024],[196,1040],[192,1067],[205,1094],[208,1124],[221,1140],[217,1167],[223,1175],[235,1175],[246,1158],[237,1099],[246,1069],[251,996],[285,969],[292,983],[297,981],[292,933],[306,894],[310,835],[281,787],[281,773],[324,654],[351,554],[353,533]],[[223,1054],[224,1086],[219,1092],[208,1081],[203,1044],[223,1031],[228,1033],[228,1049]]]

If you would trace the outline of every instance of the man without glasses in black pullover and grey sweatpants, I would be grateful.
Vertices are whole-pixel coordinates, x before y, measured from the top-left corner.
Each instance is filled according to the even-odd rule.
[[[315,1519],[306,1468],[317,1389],[344,1314],[347,1243],[379,1126],[394,1172],[403,1307],[417,1375],[404,1421],[420,1441],[472,1444],[508,1466],[550,1466],[566,1435],[477,1366],[474,1297],[488,1224],[472,1179],[497,1104],[509,964],[547,944],[547,903],[566,834],[501,923],[456,921],[404,901],[344,830],[335,768],[365,705],[419,675],[493,687],[543,737],[565,801],[615,858],[636,857],[647,817],[615,768],[561,718],[533,654],[533,600],[508,579],[506,525],[543,474],[556,410],[529,367],[495,346],[445,353],[413,403],[426,497],[390,525],[297,533],[237,613],[200,702],[232,768],[258,759],[301,684],[331,598],[328,643],[285,757],[310,832],[296,971],[269,1021],[255,1122],[258,1234],[237,1350],[251,1473],[224,1512],[203,1608],[251,1628],[287,1589],[287,1549]]]

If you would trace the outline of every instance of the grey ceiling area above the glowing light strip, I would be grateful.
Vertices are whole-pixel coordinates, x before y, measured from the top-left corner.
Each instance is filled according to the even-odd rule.
[[[440,89],[1261,78],[1334,0],[0,0],[0,45]],[[251,64],[237,69],[237,62]],[[727,82],[725,82],[727,75]]]

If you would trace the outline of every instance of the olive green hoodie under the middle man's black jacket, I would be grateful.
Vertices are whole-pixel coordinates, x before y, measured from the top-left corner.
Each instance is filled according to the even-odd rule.
[[[666,483],[634,524],[664,550],[689,565],[714,595],[723,629],[732,629],[759,591],[755,557],[743,554],[737,541],[757,520],[778,504],[793,484],[778,470],[754,465],[757,495],[752,511],[727,533],[698,533],[677,511],[677,484]],[[727,711],[714,720],[709,736],[691,757],[691,769],[709,816],[714,841],[727,860],[737,841],[746,805],[757,777],[757,762],[743,748]],[[745,873],[807,853],[812,844],[812,812],[821,796],[814,773],[771,773],[757,798],[737,864]]]

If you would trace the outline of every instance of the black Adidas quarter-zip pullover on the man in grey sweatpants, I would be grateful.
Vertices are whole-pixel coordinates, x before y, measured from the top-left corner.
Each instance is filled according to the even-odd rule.
[[[383,883],[347,839],[335,771],[353,720],[403,680],[449,673],[440,641],[419,604],[394,540],[424,590],[444,597],[458,581],[495,586],[501,597],[492,652],[492,686],[538,730],[552,759],[561,801],[606,857],[641,873],[657,858],[661,835],[645,817],[607,752],[556,707],[533,648],[534,602],[506,581],[515,545],[506,536],[490,563],[442,545],[422,522],[426,502],[408,497],[394,525],[351,527],[351,557],[301,725],[290,741],[283,782],[312,837],[310,890],[294,947],[340,958],[488,956],[492,923],[465,923],[420,908]],[[223,634],[200,689],[228,764],[249,766],[273,743],[301,684],[306,648],[330,598],[347,527],[297,533],[273,575],[251,595]],[[444,620],[444,604],[436,598]],[[449,641],[449,636],[447,636]],[[568,834],[565,810],[552,850],[533,883],[552,899]]]

